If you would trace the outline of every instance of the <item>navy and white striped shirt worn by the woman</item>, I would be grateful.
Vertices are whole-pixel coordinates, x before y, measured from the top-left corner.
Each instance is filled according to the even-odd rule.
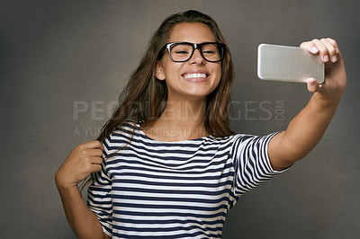
[[[234,135],[162,142],[139,127],[103,140],[88,207],[113,238],[220,238],[239,197],[276,174],[271,137]],[[119,150],[121,149],[121,150]]]

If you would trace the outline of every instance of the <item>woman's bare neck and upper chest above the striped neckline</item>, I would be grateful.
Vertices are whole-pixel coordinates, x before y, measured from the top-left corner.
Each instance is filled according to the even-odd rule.
[[[179,141],[205,137],[205,101],[167,102],[158,120],[143,128],[148,137],[161,141]]]

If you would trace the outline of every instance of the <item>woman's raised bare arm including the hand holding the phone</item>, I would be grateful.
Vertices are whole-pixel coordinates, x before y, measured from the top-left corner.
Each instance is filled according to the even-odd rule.
[[[306,41],[301,47],[320,55],[326,67],[325,81],[318,84],[315,79],[308,80],[308,90],[313,93],[310,102],[284,132],[270,141],[270,161],[278,170],[302,159],[320,142],[347,87],[344,60],[335,40]]]

